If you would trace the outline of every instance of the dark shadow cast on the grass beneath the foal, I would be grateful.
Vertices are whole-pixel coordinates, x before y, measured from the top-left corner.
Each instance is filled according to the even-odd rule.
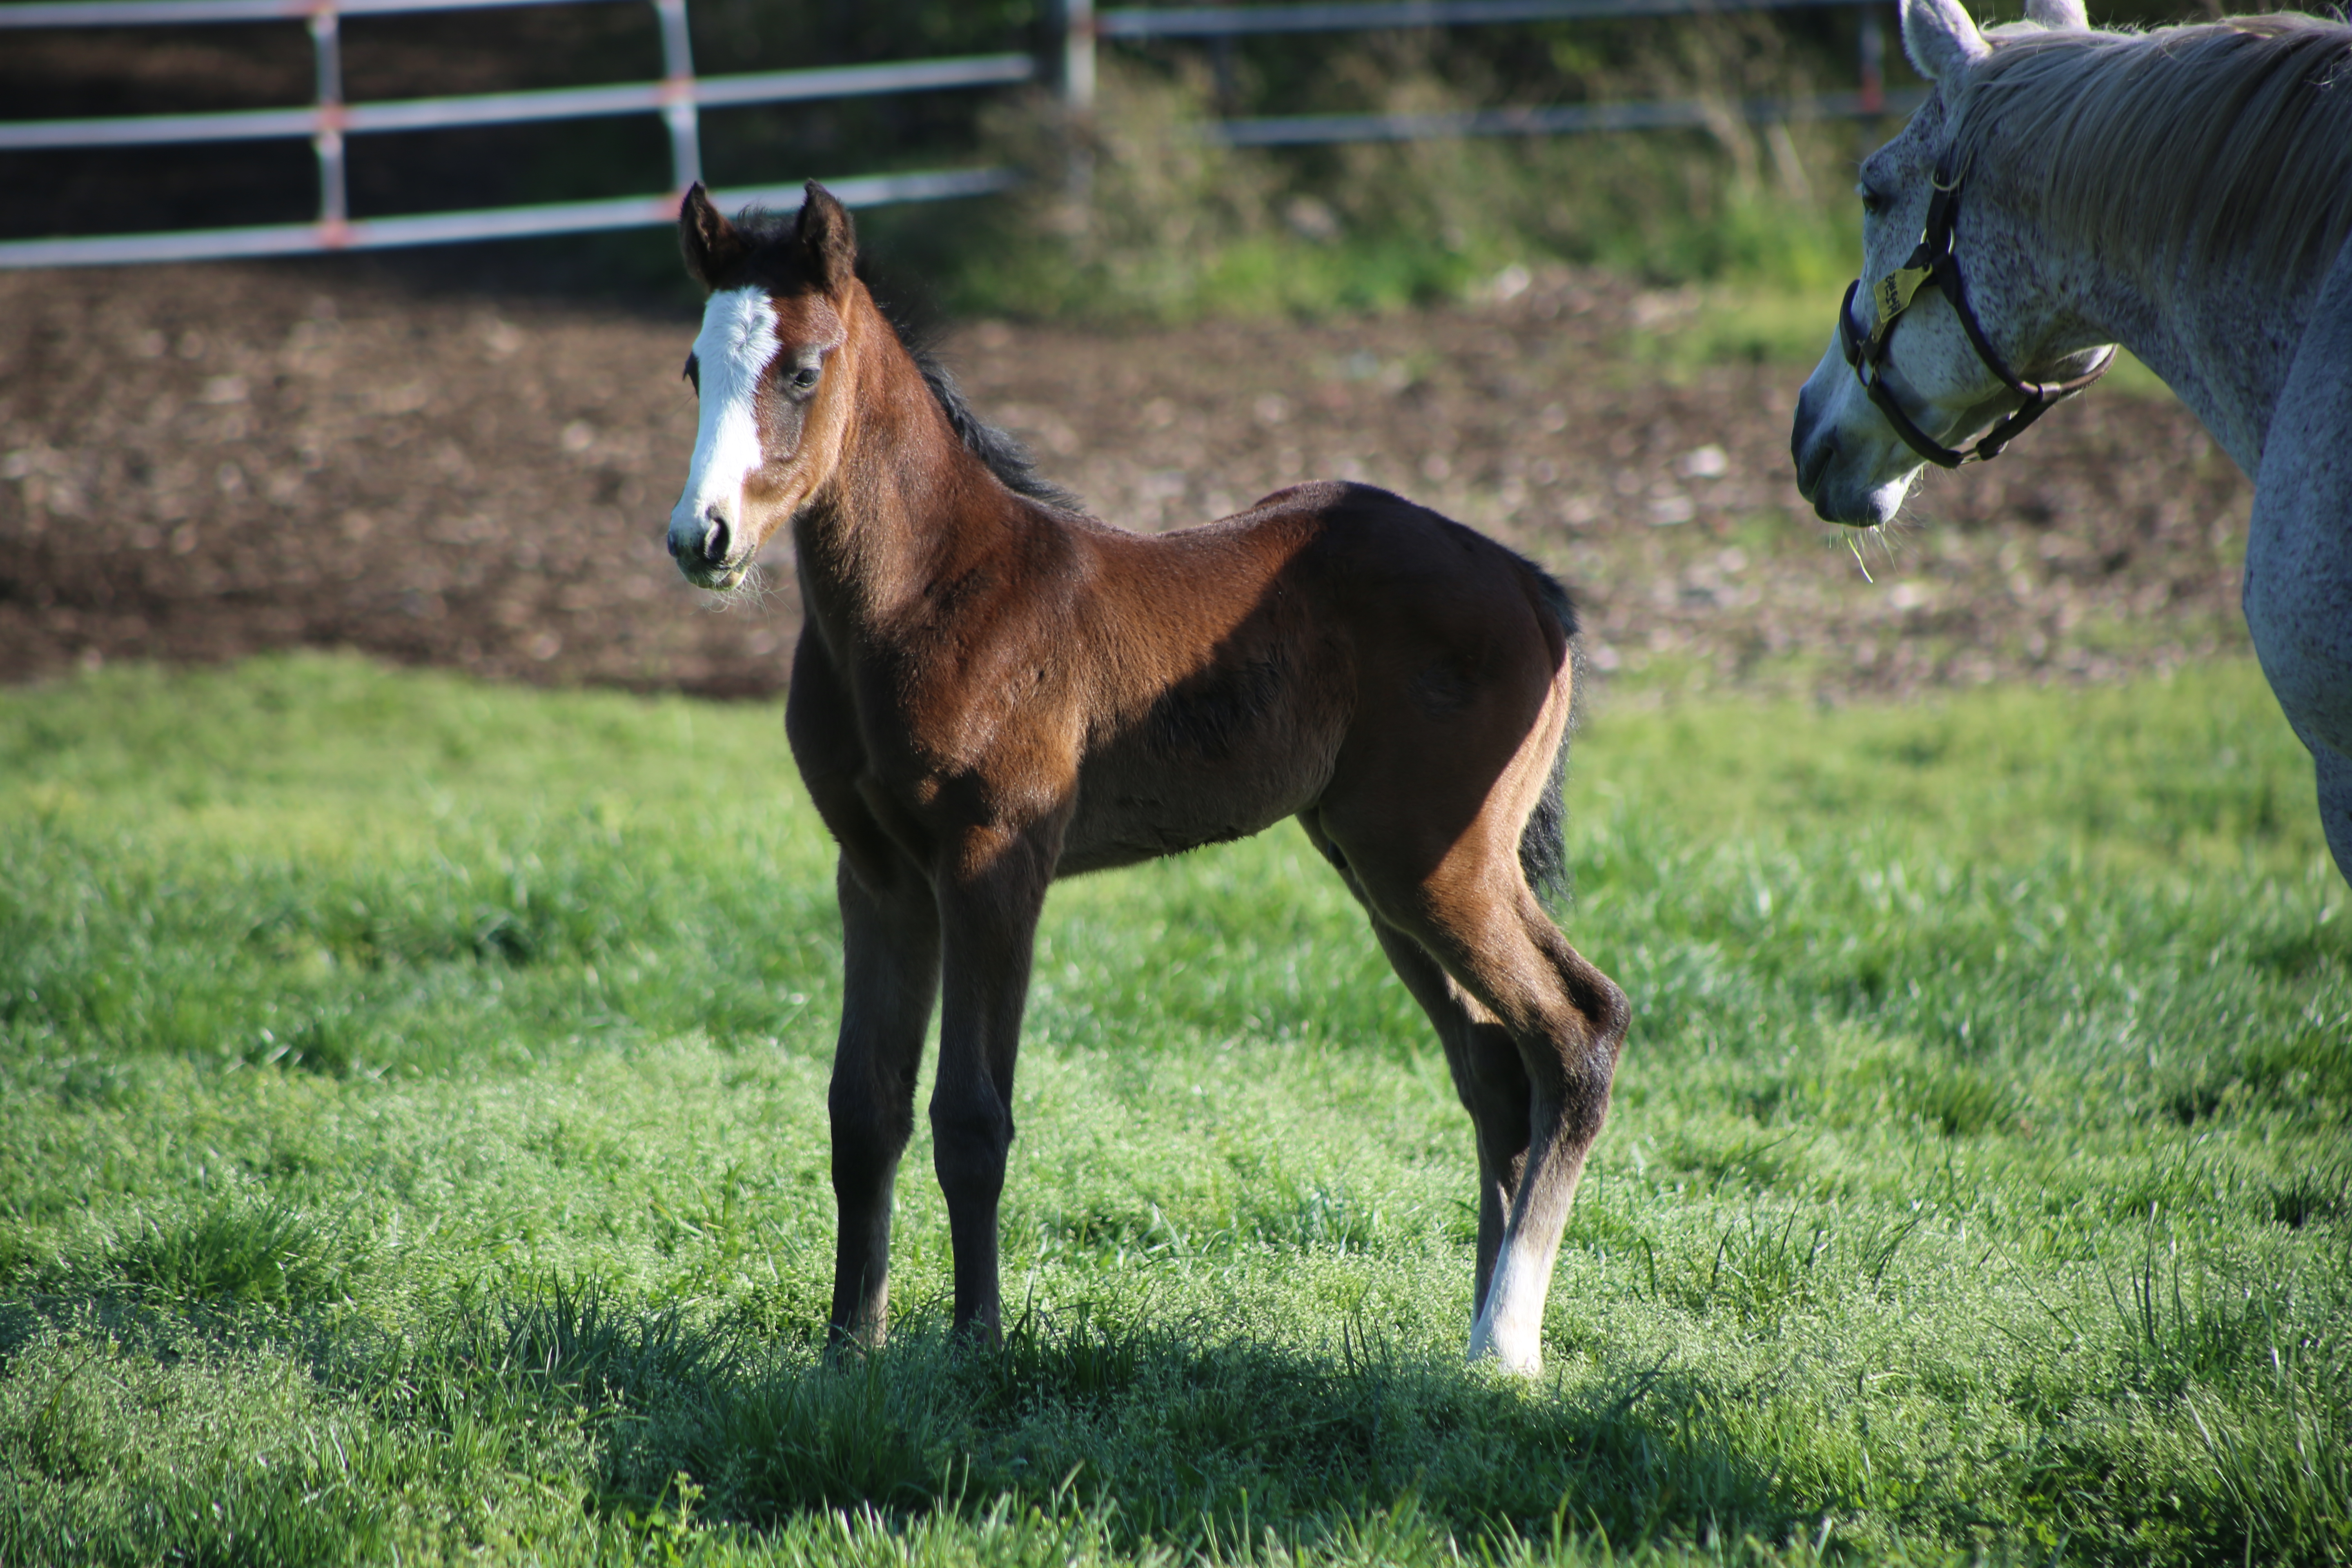
[[[703,1521],[753,1530],[811,1512],[978,1516],[1070,1505],[1120,1549],[1336,1544],[1414,1514],[1456,1540],[1559,1528],[1628,1542],[1785,1540],[1820,1500],[1733,1450],[1738,1394],[1663,1368],[1524,1387],[1364,1342],[1329,1354],[1232,1324],[1080,1307],[1002,1349],[917,1321],[873,1354],[776,1352],[576,1293],[510,1307],[499,1349],[626,1420],[597,1422],[607,1507],[696,1488]],[[539,1368],[546,1368],[541,1373]]]

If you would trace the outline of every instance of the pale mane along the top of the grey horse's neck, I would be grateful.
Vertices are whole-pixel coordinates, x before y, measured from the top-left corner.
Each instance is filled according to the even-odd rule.
[[[2239,16],[2147,33],[1999,28],[1947,99],[1952,167],[2164,284],[2324,270],[2352,228],[2352,26]]]

